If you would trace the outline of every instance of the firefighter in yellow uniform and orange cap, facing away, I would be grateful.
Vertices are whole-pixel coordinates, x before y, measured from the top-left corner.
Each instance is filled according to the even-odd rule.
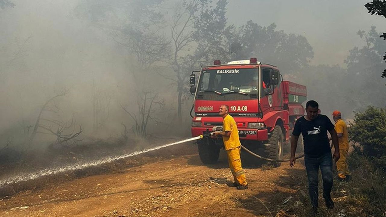
[[[347,164],[347,153],[349,152],[349,135],[347,134],[347,125],[342,120],[342,114],[335,110],[332,113],[335,121],[335,131],[339,138],[339,152],[340,158],[337,161],[337,171],[340,180],[348,180],[351,175],[349,166]]]

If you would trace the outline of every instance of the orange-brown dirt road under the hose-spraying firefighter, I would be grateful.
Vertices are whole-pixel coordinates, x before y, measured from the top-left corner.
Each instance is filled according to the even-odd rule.
[[[288,203],[293,204],[304,196],[301,163],[295,168],[287,163],[245,167],[249,189],[236,190],[229,186],[233,180],[223,152],[211,166],[203,165],[197,154],[154,158],[3,198],[0,216],[275,216],[288,212],[288,204],[282,204],[286,198],[292,196]]]

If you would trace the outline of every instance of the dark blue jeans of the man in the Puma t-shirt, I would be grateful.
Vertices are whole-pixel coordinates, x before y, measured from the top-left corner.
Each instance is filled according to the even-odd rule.
[[[330,198],[332,188],[332,155],[330,152],[319,157],[304,156],[308,177],[308,193],[312,207],[318,207],[318,175],[322,171],[323,198]]]

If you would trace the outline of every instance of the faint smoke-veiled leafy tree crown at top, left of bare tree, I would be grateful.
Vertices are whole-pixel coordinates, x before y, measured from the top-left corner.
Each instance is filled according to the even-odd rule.
[[[169,56],[169,40],[159,33],[164,15],[158,11],[163,0],[82,0],[75,8],[78,17],[113,36],[147,69]]]

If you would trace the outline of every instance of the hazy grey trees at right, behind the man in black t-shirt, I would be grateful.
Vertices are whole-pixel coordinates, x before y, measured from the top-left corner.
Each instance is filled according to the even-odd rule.
[[[320,103],[323,114],[339,109],[345,117],[353,110],[364,110],[368,105],[385,107],[384,82],[379,78],[386,41],[379,38],[376,27],[367,32],[358,31],[364,46],[354,47],[345,60],[347,69],[340,66],[318,65],[302,68],[299,73],[285,75],[284,79],[307,86],[308,98]]]

